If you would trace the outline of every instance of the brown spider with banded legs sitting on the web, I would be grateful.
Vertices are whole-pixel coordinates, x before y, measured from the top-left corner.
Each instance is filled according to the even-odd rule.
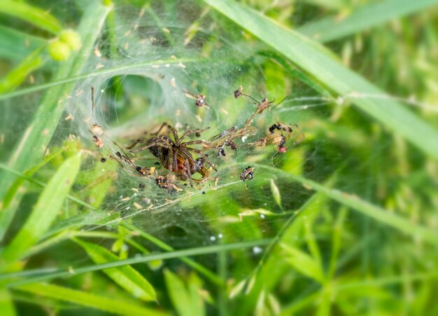
[[[171,139],[169,136],[166,135],[160,135],[160,131],[163,127],[168,127],[173,134],[174,139]],[[211,143],[208,143],[206,141],[185,141],[183,142],[184,138],[189,136],[190,134],[200,134],[203,131],[206,131],[209,129],[207,127],[206,129],[190,129],[188,131],[185,131],[183,136],[178,136],[178,132],[174,127],[172,127],[170,124],[167,124],[164,122],[160,129],[155,133],[155,136],[150,139],[144,139],[139,138],[138,140],[134,141],[131,145],[127,146],[127,150],[129,152],[141,152],[143,150],[148,149],[152,155],[157,157],[157,159],[160,161],[160,164],[164,166],[164,168],[169,169],[169,175],[172,173],[176,173],[178,175],[181,175],[182,180],[190,180],[190,185],[192,186],[192,175],[195,173],[199,173],[202,175],[202,180],[205,180],[209,177],[209,171],[206,168],[206,163],[211,166],[215,171],[217,169],[209,159],[207,158],[207,155],[202,152],[202,150],[198,150],[196,148],[188,147],[189,145],[203,145],[206,148],[215,148]],[[141,148],[134,148],[137,144],[143,143],[146,144]],[[191,152],[196,153],[197,155],[200,155],[201,157],[194,158],[191,154]],[[139,171],[139,170],[137,170]],[[140,172],[140,171],[139,171]],[[171,176],[167,180],[166,187],[168,189],[174,188],[171,185],[172,178]],[[164,183],[163,181],[160,181],[160,183]],[[159,185],[160,187],[164,187],[164,185]]]

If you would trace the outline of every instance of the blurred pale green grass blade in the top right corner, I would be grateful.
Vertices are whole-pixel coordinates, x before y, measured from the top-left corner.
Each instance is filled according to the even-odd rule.
[[[359,7],[341,19],[337,16],[325,17],[322,20],[304,24],[297,31],[325,43],[389,22],[397,17],[403,17],[404,15],[436,6],[437,4],[438,0],[377,1]]]

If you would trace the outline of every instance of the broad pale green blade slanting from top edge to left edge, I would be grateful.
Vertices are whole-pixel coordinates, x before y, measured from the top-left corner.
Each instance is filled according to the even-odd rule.
[[[92,52],[94,42],[100,33],[101,27],[110,8],[101,6],[98,1],[92,1],[90,6],[85,8],[85,13],[77,29],[83,41],[81,50],[68,61],[59,66],[52,80],[59,80],[70,76],[76,76],[83,69],[88,56]],[[29,127],[24,131],[21,141],[11,155],[8,166],[17,171],[24,171],[33,161],[43,157],[45,148],[52,138],[59,118],[64,110],[64,103],[59,99],[71,93],[73,84],[59,85],[49,89],[38,106],[36,113]],[[0,173],[0,197],[3,198],[6,189],[15,178],[9,173]]]

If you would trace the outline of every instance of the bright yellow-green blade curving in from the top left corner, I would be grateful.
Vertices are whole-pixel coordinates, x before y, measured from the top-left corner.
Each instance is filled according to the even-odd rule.
[[[61,23],[56,17],[45,10],[36,6],[30,6],[22,1],[1,1],[0,13],[6,13],[14,17],[18,17],[26,22],[41,27],[53,34],[58,34],[62,30]]]

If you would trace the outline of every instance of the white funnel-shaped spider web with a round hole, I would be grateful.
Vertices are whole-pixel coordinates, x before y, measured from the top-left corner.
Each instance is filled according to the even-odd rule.
[[[342,113],[352,111],[351,102],[358,98],[397,99],[407,106],[437,110],[414,99],[390,95],[332,95],[311,85],[309,78],[306,81],[291,76],[283,66],[278,66],[275,58],[264,54],[268,50],[265,45],[248,34],[222,29],[220,18],[206,8],[194,3],[179,7],[185,10],[178,12],[177,20],[164,13],[160,5],[154,7],[154,13],[148,7],[116,8],[115,28],[101,34],[84,69],[89,76],[78,81],[67,99],[66,117],[71,115],[74,119],[60,124],[53,143],[69,135],[80,138],[89,152],[84,166],[90,171],[89,177],[96,177],[99,171],[96,186],[110,181],[99,204],[107,216],[100,220],[101,224],[83,227],[83,231],[112,227],[126,220],[174,248],[276,236],[288,212],[297,210],[313,194],[282,174],[305,175],[323,182],[346,164],[350,152],[353,156],[357,139],[364,143],[367,135],[360,131],[349,137],[353,129],[346,128],[348,124],[336,127]],[[228,148],[227,155],[219,158],[216,150],[206,150],[218,168],[217,172],[211,171],[212,180],[195,188],[188,181],[177,180],[176,185],[183,190],[169,194],[153,179],[141,177],[131,166],[122,167],[110,158],[120,151],[115,143],[129,145],[145,133],[156,131],[162,122],[176,127],[180,135],[187,129],[210,127],[200,138],[190,140],[208,141],[231,127],[239,129],[255,110],[248,100],[234,98],[233,92],[239,85],[257,100],[287,98],[255,118],[252,126],[257,133],[236,140],[236,152]],[[95,91],[94,107],[91,87]],[[206,95],[211,108],[195,106],[186,90]],[[358,121],[369,122],[369,117],[356,115]],[[297,134],[293,134],[284,154],[274,145],[265,148],[247,145],[266,136],[268,127],[276,122],[297,124],[304,141],[295,144]],[[93,124],[104,131],[99,135],[103,141],[101,148],[96,148],[90,133]],[[342,134],[344,127],[344,141],[348,145],[339,144],[338,155],[332,136],[325,131],[336,129]],[[373,157],[353,161],[355,170],[351,172],[368,168],[390,143],[388,139],[376,145]],[[168,172],[148,150],[127,155],[135,157],[141,166],[155,167],[159,174]],[[106,162],[101,162],[101,158]],[[246,166],[253,166],[254,179],[243,182],[239,175]],[[361,182],[360,178],[350,179],[348,183],[340,182],[337,188],[348,192],[350,187],[361,187]],[[87,201],[93,203],[93,196],[87,196]],[[257,256],[260,249],[253,252]]]

